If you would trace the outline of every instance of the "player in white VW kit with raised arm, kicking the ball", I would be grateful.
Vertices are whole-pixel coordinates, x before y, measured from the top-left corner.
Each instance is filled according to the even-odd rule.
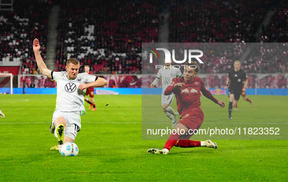
[[[56,109],[50,132],[58,138],[58,146],[52,147],[51,150],[59,150],[62,144],[74,142],[77,132],[81,129],[80,116],[85,114],[83,90],[104,86],[107,81],[86,72],[78,74],[80,64],[74,58],[67,61],[66,71],[54,72],[47,69],[39,53],[40,45],[37,38],[33,41],[33,50],[40,72],[57,82]]]

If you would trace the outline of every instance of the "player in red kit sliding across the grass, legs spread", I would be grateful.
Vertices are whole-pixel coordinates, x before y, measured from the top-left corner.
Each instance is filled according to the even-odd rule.
[[[216,143],[211,140],[206,141],[194,141],[189,140],[192,136],[189,134],[189,130],[199,129],[204,120],[204,114],[200,108],[200,96],[202,94],[211,99],[220,107],[224,108],[225,103],[222,100],[215,99],[209,90],[205,88],[202,79],[196,76],[199,71],[199,66],[196,62],[192,62],[188,66],[185,66],[184,77],[173,78],[171,84],[166,88],[164,94],[175,94],[177,101],[177,110],[181,115],[175,130],[175,134],[171,134],[164,146],[161,149],[148,149],[148,153],[151,154],[168,154],[170,149],[175,147],[193,148],[193,147],[210,147],[217,148]],[[180,134],[178,131],[185,131],[185,134]]]

